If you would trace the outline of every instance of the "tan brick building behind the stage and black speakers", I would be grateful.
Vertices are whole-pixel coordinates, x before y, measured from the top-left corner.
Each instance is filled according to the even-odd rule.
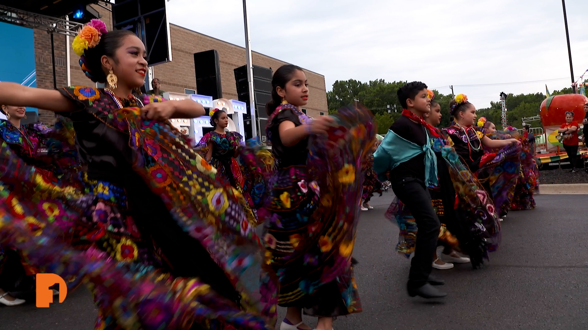
[[[112,30],[112,14],[101,6],[92,5],[102,17],[109,30]],[[191,31],[182,26],[170,24],[172,62],[153,67],[153,75],[161,80],[161,89],[166,92],[185,93],[185,89],[196,89],[196,74],[194,69],[193,54],[204,50],[216,49],[219,53],[220,79],[222,82],[223,97],[226,99],[237,99],[235,75],[233,69],[243,66],[245,60],[245,48],[228,43],[211,36]],[[69,45],[66,44],[66,37],[54,35],[55,45],[55,69],[56,85],[58,87],[68,85],[66,68],[69,67],[69,85],[88,86],[92,82],[83,74],[79,67],[79,57],[71,48],[73,38],[69,38]],[[35,66],[37,74],[37,86],[52,89],[53,70],[51,60],[51,36],[45,31],[34,32],[35,40]],[[68,52],[69,48],[69,52]],[[282,60],[267,55],[252,52],[253,64],[272,68],[276,70],[279,66],[286,64]],[[327,98],[325,88],[325,76],[319,73],[306,70],[306,77],[309,82],[310,97],[306,106],[309,116],[319,116],[320,112],[327,113]],[[39,109],[39,117],[42,122],[52,124],[54,115]]]

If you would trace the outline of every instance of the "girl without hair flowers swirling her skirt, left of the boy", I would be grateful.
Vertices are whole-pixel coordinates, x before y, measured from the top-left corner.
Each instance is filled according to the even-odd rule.
[[[270,180],[265,214],[266,254],[280,281],[279,301],[288,307],[281,330],[332,330],[333,317],[361,310],[353,281],[362,183],[362,160],[375,141],[367,110],[341,109],[310,119],[300,111],[308,100],[302,69],[284,65],[273,75],[267,105],[267,134],[277,170]]]

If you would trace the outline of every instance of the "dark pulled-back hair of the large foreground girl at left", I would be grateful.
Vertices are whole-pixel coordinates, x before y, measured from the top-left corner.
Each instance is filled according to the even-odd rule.
[[[105,83],[106,73],[102,69],[102,56],[106,55],[116,61],[116,50],[122,46],[122,40],[126,36],[135,35],[129,30],[114,30],[102,33],[100,42],[93,48],[84,50],[79,58],[79,65],[83,73],[93,82]]]

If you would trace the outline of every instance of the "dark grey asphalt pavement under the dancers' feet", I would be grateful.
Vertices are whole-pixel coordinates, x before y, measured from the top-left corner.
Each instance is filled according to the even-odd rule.
[[[432,300],[406,294],[409,260],[394,251],[398,228],[383,217],[392,197],[373,198],[361,214],[354,256],[363,312],[336,319],[336,330],[588,329],[588,195],[539,195],[536,209],[509,213],[482,269],[434,270],[448,295]],[[90,330],[95,317],[80,288],[49,308],[34,299],[0,307],[0,329]]]

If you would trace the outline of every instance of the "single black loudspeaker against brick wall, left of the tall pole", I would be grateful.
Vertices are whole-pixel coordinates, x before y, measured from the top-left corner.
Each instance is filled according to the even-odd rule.
[[[213,100],[222,98],[219,53],[215,49],[194,53],[194,69],[198,94],[212,96]]]

